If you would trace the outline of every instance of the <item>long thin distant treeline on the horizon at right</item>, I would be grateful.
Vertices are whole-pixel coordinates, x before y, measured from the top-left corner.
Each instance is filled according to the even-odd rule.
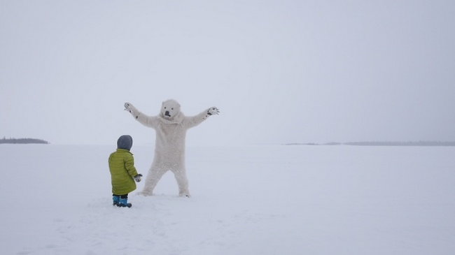
[[[455,146],[455,142],[351,142],[351,143],[287,143],[286,145],[357,145],[357,146]]]

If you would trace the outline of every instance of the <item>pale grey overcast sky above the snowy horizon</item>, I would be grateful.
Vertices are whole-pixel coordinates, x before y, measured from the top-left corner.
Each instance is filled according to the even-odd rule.
[[[455,1],[0,0],[0,136],[187,145],[455,140]]]

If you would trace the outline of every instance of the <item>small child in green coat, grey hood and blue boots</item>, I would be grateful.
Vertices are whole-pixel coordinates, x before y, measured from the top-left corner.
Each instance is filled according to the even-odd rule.
[[[134,167],[133,154],[130,152],[133,145],[131,136],[120,136],[117,140],[117,150],[109,156],[109,170],[111,171],[113,205],[131,207],[128,203],[128,193],[136,189],[136,182],[141,181],[141,174]]]

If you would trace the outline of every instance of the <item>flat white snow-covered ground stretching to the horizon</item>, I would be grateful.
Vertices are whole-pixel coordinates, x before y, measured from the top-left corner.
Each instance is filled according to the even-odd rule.
[[[113,146],[0,145],[1,254],[453,254],[455,147],[187,147],[111,205]],[[153,145],[132,147],[147,174]],[[144,182],[138,184],[138,190]]]

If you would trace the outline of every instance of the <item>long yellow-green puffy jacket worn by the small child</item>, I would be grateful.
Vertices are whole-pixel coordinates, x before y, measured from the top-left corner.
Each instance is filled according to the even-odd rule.
[[[137,175],[133,154],[129,150],[117,149],[109,156],[112,194],[125,195],[136,189],[133,177]]]

